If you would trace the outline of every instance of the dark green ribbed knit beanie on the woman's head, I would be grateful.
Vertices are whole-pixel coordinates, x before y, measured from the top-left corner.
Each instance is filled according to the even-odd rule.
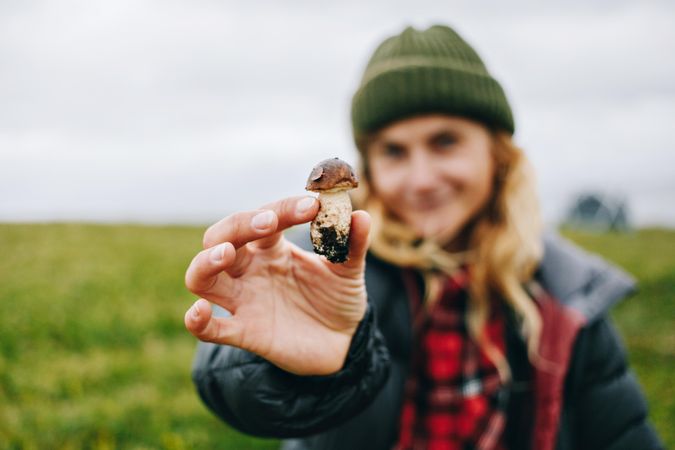
[[[502,87],[476,51],[442,25],[424,31],[408,27],[375,50],[352,99],[354,137],[424,113],[457,115],[514,131]]]

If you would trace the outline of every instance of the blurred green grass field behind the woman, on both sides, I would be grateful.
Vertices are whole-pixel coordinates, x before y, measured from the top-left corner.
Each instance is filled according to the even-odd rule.
[[[213,418],[190,381],[195,227],[0,224],[0,449],[275,448]],[[632,272],[614,318],[675,447],[675,231],[569,234]]]

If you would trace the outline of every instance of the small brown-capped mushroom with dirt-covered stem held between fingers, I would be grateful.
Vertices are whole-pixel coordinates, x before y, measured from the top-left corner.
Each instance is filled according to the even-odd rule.
[[[359,185],[349,164],[331,158],[314,166],[305,189],[319,193],[319,212],[312,220],[310,237],[314,253],[332,263],[342,263],[349,253],[352,202],[347,191]]]

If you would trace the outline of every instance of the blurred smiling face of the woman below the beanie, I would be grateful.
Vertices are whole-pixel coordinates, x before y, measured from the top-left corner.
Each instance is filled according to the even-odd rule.
[[[489,130],[469,119],[395,122],[367,149],[373,193],[421,237],[452,239],[490,199],[491,147]]]

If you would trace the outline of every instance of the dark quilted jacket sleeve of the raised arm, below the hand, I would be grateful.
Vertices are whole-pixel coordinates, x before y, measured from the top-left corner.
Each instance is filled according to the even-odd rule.
[[[365,408],[384,384],[389,353],[372,306],[344,367],[298,376],[239,348],[199,343],[193,381],[206,405],[232,427],[264,437],[302,437],[332,428]]]

